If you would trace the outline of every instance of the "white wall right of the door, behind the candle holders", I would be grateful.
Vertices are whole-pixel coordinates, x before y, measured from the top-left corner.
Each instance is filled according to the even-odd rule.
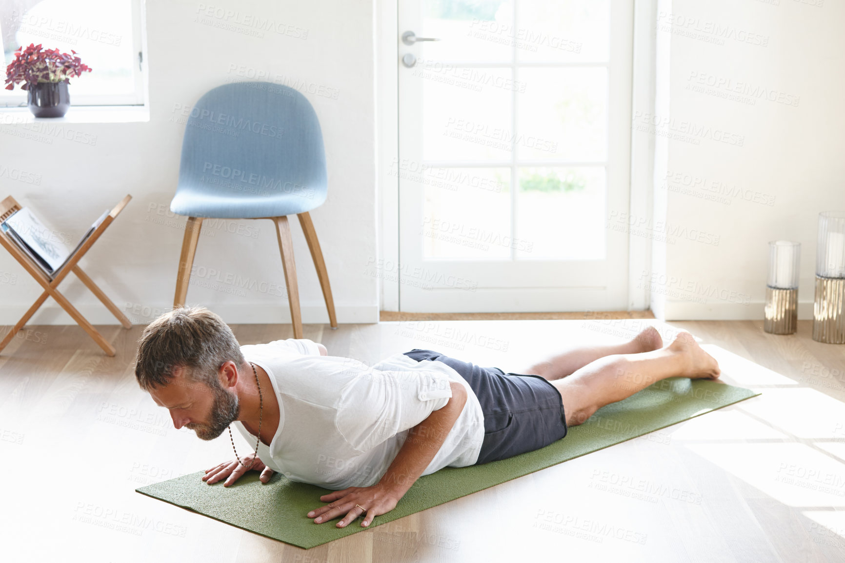
[[[653,221],[675,240],[655,245],[665,264],[652,308],[668,320],[762,319],[767,242],[789,239],[802,244],[799,314],[811,318],[817,216],[845,209],[845,3],[673,0],[660,10],[668,104],[655,116],[669,136]]]

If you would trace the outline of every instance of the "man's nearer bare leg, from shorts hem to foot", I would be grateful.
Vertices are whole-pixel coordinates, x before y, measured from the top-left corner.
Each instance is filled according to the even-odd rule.
[[[656,381],[673,376],[717,378],[719,373],[717,361],[689,332],[681,332],[660,350],[599,358],[551,384],[560,391],[566,424],[576,426],[599,408],[622,401]]]

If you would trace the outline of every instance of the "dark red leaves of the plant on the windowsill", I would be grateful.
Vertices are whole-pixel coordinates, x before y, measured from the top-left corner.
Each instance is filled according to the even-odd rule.
[[[30,85],[38,82],[64,82],[69,78],[82,76],[84,72],[91,72],[90,67],[72,55],[59,52],[58,49],[41,50],[41,44],[24,49],[19,46],[14,52],[14,61],[6,67],[6,90],[12,90],[14,85],[24,83],[21,90],[29,90]],[[70,81],[68,80],[68,84]]]

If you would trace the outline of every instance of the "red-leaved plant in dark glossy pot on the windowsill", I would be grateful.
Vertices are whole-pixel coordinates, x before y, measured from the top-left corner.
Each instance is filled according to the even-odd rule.
[[[41,50],[41,44],[34,43],[25,49],[19,46],[14,61],[6,68],[6,90],[23,82],[20,88],[28,92],[27,104],[36,118],[61,118],[70,107],[69,79],[91,72],[74,56],[73,49],[70,52],[73,54],[58,49]]]

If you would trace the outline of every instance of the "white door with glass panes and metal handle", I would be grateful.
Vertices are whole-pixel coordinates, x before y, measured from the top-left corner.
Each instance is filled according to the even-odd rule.
[[[400,309],[625,309],[631,2],[400,3]]]

